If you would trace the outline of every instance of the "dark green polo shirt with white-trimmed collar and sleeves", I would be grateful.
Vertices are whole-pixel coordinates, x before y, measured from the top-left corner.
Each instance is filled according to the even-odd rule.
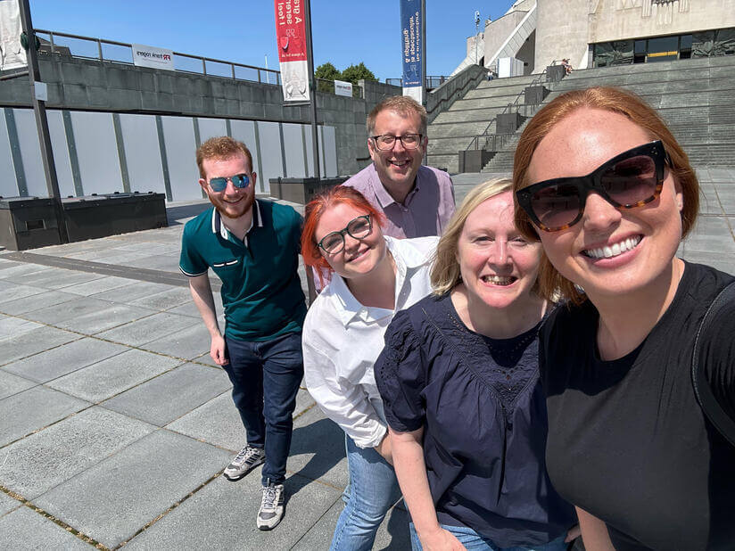
[[[179,268],[201,276],[209,268],[222,280],[225,335],[269,341],[300,333],[306,302],[297,269],[302,218],[271,201],[254,201],[252,226],[240,241],[212,208],[186,222]]]

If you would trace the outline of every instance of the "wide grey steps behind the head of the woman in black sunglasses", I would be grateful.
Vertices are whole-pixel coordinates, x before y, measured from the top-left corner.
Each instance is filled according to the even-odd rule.
[[[574,70],[544,103],[569,90],[620,86],[657,109],[696,167],[735,166],[735,56]],[[527,123],[527,121],[526,121]],[[523,127],[483,172],[511,172]]]

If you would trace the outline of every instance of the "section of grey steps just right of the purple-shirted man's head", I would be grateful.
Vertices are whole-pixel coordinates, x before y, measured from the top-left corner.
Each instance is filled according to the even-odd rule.
[[[429,125],[428,164],[457,172],[458,152],[467,149],[475,136],[482,134],[491,120],[508,103],[515,102],[537,76],[484,80],[437,116]]]

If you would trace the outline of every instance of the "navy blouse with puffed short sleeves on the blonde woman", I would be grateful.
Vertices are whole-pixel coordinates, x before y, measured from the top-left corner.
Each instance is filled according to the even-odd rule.
[[[574,524],[544,465],[546,407],[539,326],[495,340],[467,329],[450,295],[399,312],[375,374],[385,417],[424,431],[439,522],[467,526],[499,547],[546,543]]]

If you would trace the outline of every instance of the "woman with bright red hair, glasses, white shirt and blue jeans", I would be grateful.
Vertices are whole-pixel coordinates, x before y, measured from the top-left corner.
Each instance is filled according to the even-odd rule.
[[[428,259],[438,238],[385,236],[383,214],[351,187],[320,195],[304,218],[305,262],[332,273],[304,322],[306,386],[345,432],[350,472],[330,548],[369,550],[401,498],[373,364],[395,312],[431,292]]]

